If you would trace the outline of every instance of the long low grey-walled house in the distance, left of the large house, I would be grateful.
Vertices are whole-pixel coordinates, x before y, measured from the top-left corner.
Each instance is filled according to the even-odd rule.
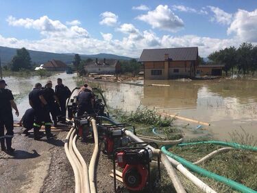
[[[97,73],[97,74],[118,74],[121,73],[121,64],[119,60],[106,59],[90,61],[86,63],[84,67],[87,73]]]

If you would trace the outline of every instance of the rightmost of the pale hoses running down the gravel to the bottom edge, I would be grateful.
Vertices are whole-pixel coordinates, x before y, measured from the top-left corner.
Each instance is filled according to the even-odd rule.
[[[89,163],[89,167],[88,167],[88,174],[89,174],[89,183],[90,183],[91,193],[95,193],[95,192],[97,192],[97,188],[96,188],[96,184],[95,184],[95,170],[96,170],[97,155],[99,154],[99,145],[98,145],[97,124],[96,124],[95,119],[91,118],[90,123],[93,126],[95,148],[93,151],[93,155],[90,159],[90,163]]]

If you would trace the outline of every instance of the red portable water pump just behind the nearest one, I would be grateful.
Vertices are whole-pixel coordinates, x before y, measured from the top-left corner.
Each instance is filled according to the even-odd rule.
[[[132,127],[135,133],[134,126],[130,124],[112,124],[108,126],[99,126],[99,137],[103,141],[103,153],[106,153],[108,157],[113,155],[115,148],[127,146],[130,141],[130,137],[124,136],[124,130],[126,127]]]

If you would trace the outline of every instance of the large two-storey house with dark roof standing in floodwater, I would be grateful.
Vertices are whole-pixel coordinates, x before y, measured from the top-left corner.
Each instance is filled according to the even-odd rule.
[[[139,60],[145,79],[195,77],[198,47],[144,49]]]

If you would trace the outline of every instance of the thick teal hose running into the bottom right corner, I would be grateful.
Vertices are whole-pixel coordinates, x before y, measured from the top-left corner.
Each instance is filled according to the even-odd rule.
[[[195,166],[195,164],[191,163],[190,161],[186,161],[186,159],[183,159],[182,157],[178,157],[178,155],[174,155],[173,153],[169,152],[168,151],[169,148],[171,148],[171,146],[162,146],[162,152],[164,152],[169,157],[175,159],[176,161],[179,161],[180,163],[182,163],[184,166],[186,166],[190,170],[197,172],[198,174],[201,174],[205,177],[209,177],[211,179],[215,179],[217,181],[223,182],[223,183],[229,185],[234,190],[238,190],[240,192],[246,192],[246,193],[256,192],[250,188],[247,188],[245,185],[243,185],[241,183],[237,183],[237,182],[227,179],[225,177],[219,176],[218,174],[209,172],[208,170],[204,170],[203,168],[200,168],[199,166]]]

